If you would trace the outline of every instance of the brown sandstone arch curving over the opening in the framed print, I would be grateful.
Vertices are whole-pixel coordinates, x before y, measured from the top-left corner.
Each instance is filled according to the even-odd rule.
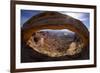
[[[89,43],[89,31],[81,21],[59,12],[50,11],[33,16],[23,25],[21,30],[23,41],[27,42],[33,32],[41,29],[69,29],[81,37],[84,46]]]

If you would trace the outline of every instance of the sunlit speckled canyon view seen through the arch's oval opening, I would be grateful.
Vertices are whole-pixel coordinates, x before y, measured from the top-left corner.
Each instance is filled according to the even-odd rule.
[[[50,57],[75,55],[81,52],[81,38],[70,30],[41,30],[33,33],[27,44]]]

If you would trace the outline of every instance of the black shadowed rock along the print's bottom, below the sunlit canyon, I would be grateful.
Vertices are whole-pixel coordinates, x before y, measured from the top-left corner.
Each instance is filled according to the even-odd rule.
[[[89,59],[89,47],[82,50],[80,54],[74,56],[49,57],[33,50],[28,45],[21,46],[21,62],[47,62],[47,61],[68,61],[68,60],[86,60]]]

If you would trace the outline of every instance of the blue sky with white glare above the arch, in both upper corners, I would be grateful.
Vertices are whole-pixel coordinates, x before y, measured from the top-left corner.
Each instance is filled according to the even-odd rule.
[[[35,16],[39,13],[44,11],[37,11],[37,10],[21,10],[21,26],[29,20],[32,16]],[[66,14],[72,16],[84,23],[84,25],[89,29],[90,27],[90,14],[89,13],[79,13],[79,12],[67,12],[67,11],[60,11],[62,14]]]

